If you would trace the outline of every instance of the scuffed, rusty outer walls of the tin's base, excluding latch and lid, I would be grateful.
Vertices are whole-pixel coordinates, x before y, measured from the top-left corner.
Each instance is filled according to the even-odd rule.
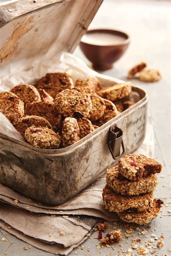
[[[113,166],[108,148],[110,127],[123,130],[125,153],[145,136],[147,96],[79,142],[62,149],[35,148],[0,135],[0,183],[45,204],[62,204]],[[142,97],[143,96],[143,97]]]

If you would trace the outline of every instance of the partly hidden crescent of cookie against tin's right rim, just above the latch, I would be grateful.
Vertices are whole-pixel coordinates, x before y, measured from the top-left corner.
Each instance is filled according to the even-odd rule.
[[[101,118],[99,118],[97,121],[95,121],[95,124],[97,126],[102,126],[102,125],[104,125],[104,123],[108,122],[115,116],[118,116],[118,110],[115,107],[115,105],[113,104],[113,102],[111,102],[110,100],[106,100],[106,99],[104,99],[104,102],[105,102],[106,108],[105,108],[103,116]]]

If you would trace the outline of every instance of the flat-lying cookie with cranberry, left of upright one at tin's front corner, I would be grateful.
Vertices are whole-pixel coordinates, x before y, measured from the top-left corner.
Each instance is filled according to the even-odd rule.
[[[61,137],[48,127],[31,126],[25,130],[25,139],[36,148],[57,149]]]

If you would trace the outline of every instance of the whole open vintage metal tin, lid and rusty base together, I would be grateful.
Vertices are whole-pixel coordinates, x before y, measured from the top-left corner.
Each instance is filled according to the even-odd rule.
[[[3,75],[9,73],[11,63],[17,70],[26,70],[38,55],[41,60],[62,51],[72,52],[102,1],[38,2],[22,1],[22,8],[19,1],[8,8],[0,6]],[[97,78],[106,86],[119,82],[98,73]],[[135,105],[67,148],[35,148],[0,134],[0,182],[45,204],[62,204],[73,197],[116,164],[121,143],[124,153],[133,152],[142,143],[148,97],[140,88],[133,87],[133,91],[140,95]]]

